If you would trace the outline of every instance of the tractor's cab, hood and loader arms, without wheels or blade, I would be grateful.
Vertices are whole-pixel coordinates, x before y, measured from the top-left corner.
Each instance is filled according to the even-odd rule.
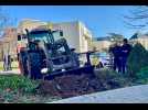
[[[78,66],[75,62],[73,52],[68,47],[66,40],[63,36],[63,32],[60,30],[32,30],[28,32],[28,51],[30,55],[41,51],[42,55],[45,56],[42,61],[45,62],[45,67],[53,72],[62,70]],[[40,50],[38,50],[40,48]]]

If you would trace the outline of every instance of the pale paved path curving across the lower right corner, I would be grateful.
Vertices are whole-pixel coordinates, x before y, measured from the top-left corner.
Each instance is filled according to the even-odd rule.
[[[148,85],[107,90],[49,103],[148,103]]]

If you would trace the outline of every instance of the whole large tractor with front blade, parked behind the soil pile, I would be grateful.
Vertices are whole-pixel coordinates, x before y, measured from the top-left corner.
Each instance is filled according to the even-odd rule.
[[[34,29],[25,32],[18,35],[18,41],[25,41],[25,46],[18,52],[20,70],[24,76],[50,80],[68,74],[93,75],[94,66],[89,59],[93,52],[76,53],[75,48],[70,48],[62,30]],[[80,64],[82,54],[87,59],[83,66]]]

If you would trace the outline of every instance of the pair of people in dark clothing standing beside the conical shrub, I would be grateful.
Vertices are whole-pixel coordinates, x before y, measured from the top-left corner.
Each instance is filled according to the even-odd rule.
[[[131,51],[131,45],[128,44],[128,40],[124,38],[123,45],[115,43],[114,47],[109,48],[113,55],[113,68],[118,73],[125,74],[127,69],[127,59]]]

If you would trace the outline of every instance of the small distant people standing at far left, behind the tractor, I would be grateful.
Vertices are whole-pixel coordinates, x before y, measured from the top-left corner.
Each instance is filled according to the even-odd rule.
[[[11,70],[11,56],[4,55],[3,57],[3,70]]]

